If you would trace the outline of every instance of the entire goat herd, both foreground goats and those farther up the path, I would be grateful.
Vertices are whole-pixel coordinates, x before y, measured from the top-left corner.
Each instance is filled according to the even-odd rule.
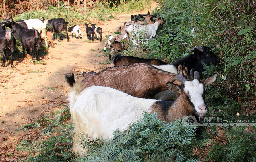
[[[144,20],[140,21],[141,18]],[[154,22],[155,20],[156,22]],[[46,36],[41,35],[42,31],[45,31],[46,24],[51,26],[53,32],[59,31],[59,41],[61,30],[65,29],[67,33],[68,22],[62,18],[39,21],[38,23],[42,26],[41,30],[20,26],[23,21],[8,20],[2,25],[12,28],[12,33],[21,41],[24,57],[26,49],[27,52],[33,52],[33,59],[36,55],[34,60],[38,60],[41,37],[43,40],[48,37],[49,40],[47,34]],[[145,31],[141,38],[147,42],[148,39],[156,35],[158,26],[164,22],[163,18],[156,18],[149,12],[145,15],[132,16],[131,22],[120,27],[121,34],[117,41],[114,36],[109,36],[104,50],[106,50],[107,44],[110,45],[111,54],[124,49],[125,41],[123,42],[123,40],[132,41],[133,47],[136,48],[140,43],[134,37],[139,35],[141,30]],[[24,23],[29,27],[27,20],[24,20]],[[96,28],[96,24],[91,24],[92,27],[88,27],[89,24],[85,24],[88,40],[94,40],[95,33],[97,40],[99,37],[102,40],[102,28]],[[76,38],[79,33],[80,39],[82,39],[78,26],[70,27],[69,32],[71,30],[76,33]],[[0,37],[1,40],[6,39],[0,41],[1,53],[3,42],[6,44],[8,42],[12,53],[16,41],[11,36],[11,32],[9,30],[1,31]],[[67,39],[69,41],[68,35]],[[205,86],[215,81],[217,74],[200,80],[200,73],[204,71],[201,62],[206,65],[210,65],[210,62],[214,65],[220,63],[220,59],[210,50],[210,47],[192,48],[187,52],[194,52],[193,54],[180,58],[172,64],[158,59],[143,59],[116,54],[112,58],[112,67],[98,72],[84,72],[81,83],[75,82],[73,73],[66,74],[66,80],[71,86],[68,100],[74,126],[72,133],[74,151],[79,152],[81,156],[86,151],[81,144],[81,136],[84,134],[88,134],[91,138],[111,138],[114,130],[119,129],[122,132],[128,128],[129,123],[138,122],[142,118],[143,112],[156,112],[158,117],[165,122],[172,122],[183,116],[203,117],[207,113],[204,89]],[[4,60],[3,55],[2,67]],[[13,67],[12,62],[11,67]]]

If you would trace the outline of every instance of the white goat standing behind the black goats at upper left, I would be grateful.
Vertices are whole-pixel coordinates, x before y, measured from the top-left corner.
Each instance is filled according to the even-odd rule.
[[[28,29],[36,29],[38,32],[42,30],[41,38],[45,41],[45,46],[48,47],[47,36],[46,36],[46,24],[48,20],[44,23],[39,19],[28,19],[24,20],[28,26]]]

